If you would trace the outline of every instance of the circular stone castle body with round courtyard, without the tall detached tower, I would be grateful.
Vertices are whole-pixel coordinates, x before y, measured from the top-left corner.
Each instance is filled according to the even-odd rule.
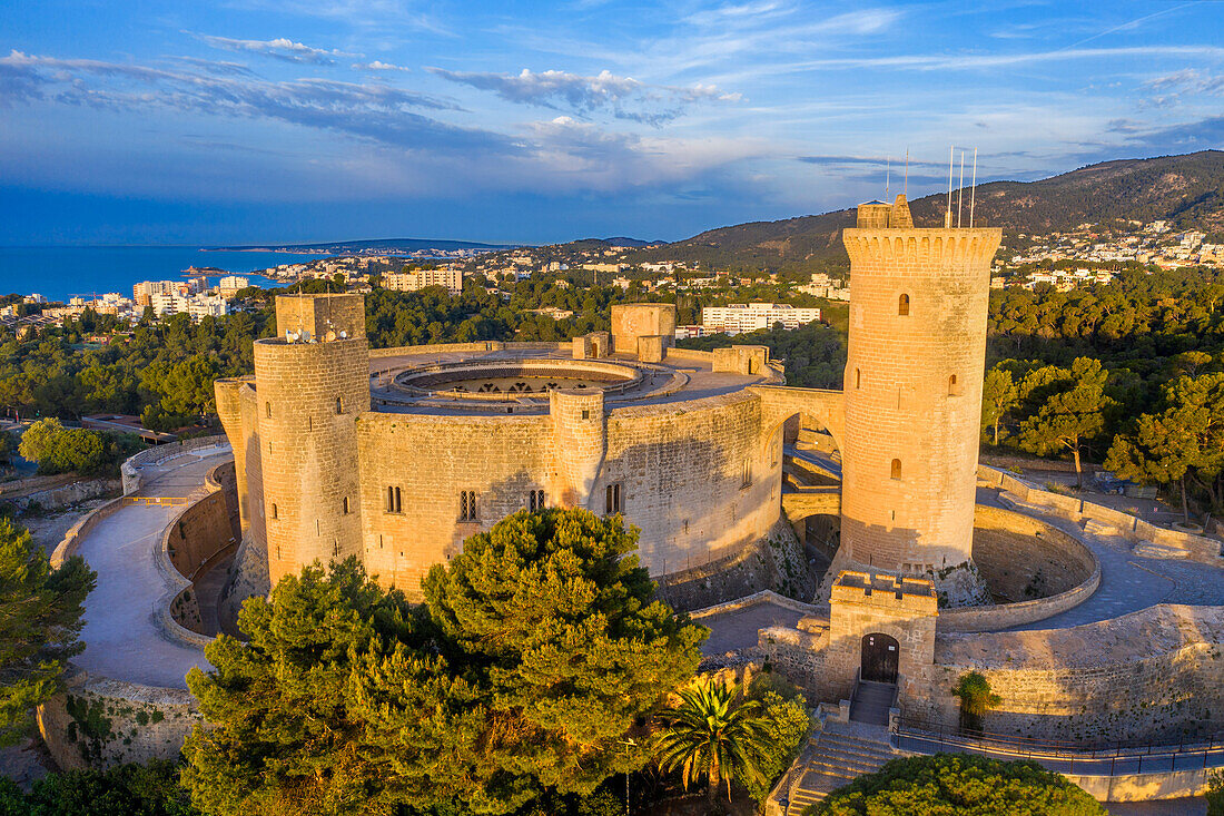
[[[782,383],[763,347],[672,348],[670,304],[613,306],[568,344],[371,352],[361,295],[277,299],[255,377],[217,383],[246,546],[268,581],[357,555],[415,593],[523,508],[623,513],[663,578],[750,551],[781,518]],[[250,553],[240,559],[252,560]]]

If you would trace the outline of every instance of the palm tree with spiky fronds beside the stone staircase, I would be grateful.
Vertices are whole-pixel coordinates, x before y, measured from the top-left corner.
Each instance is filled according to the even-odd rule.
[[[665,771],[681,769],[684,789],[706,778],[706,800],[712,810],[718,784],[727,785],[736,768],[760,778],[756,765],[769,749],[767,718],[760,702],[739,700],[739,684],[709,676],[677,692],[679,706],[661,716],[667,724],[657,741],[659,765]]]

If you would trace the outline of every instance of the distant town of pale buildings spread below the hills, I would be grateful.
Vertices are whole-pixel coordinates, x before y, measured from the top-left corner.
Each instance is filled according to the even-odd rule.
[[[1012,246],[1000,249],[991,268],[990,287],[1034,289],[1048,285],[1067,292],[1109,283],[1119,271],[1131,265],[1164,270],[1224,265],[1224,243],[1209,238],[1198,230],[1175,232],[1165,221],[1115,222],[1108,227],[1081,224],[1071,232],[1047,235],[1020,233],[1009,238]],[[718,305],[700,309],[700,323],[677,326],[677,339],[712,333],[738,334],[776,326],[793,330],[821,320],[823,311],[814,305],[815,301],[849,300],[846,276],[836,270],[814,272],[807,279],[767,271],[732,273],[701,268],[700,263],[681,260],[635,261],[639,249],[606,243],[591,246],[590,241],[577,241],[508,250],[430,250],[432,255],[424,256],[424,250],[387,255],[370,254],[371,250],[365,247],[354,250],[353,255],[282,263],[251,274],[286,285],[322,279],[359,293],[370,292],[375,285],[398,292],[441,287],[458,295],[469,281],[477,281],[487,292],[499,293],[507,300],[512,297],[514,283],[532,277],[562,288],[614,285],[644,295],[683,297],[714,292],[723,295],[718,298]],[[215,285],[209,284],[209,273],[218,272],[224,270],[190,267],[180,281],[137,282],[131,297],[110,292],[54,303],[31,293],[21,303],[0,308],[0,323],[21,334],[33,327],[61,323],[66,317],[80,317],[86,310],[130,321],[160,320],[173,315],[188,315],[196,322],[222,317],[244,308],[251,278],[225,274]],[[771,287],[772,300],[728,301],[734,299],[737,290],[761,284]],[[553,320],[573,315],[569,310],[552,306],[532,311]]]

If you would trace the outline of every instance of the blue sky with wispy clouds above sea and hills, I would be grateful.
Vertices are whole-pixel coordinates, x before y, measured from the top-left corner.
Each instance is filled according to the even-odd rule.
[[[9,0],[0,244],[679,239],[1224,142],[1224,2]]]

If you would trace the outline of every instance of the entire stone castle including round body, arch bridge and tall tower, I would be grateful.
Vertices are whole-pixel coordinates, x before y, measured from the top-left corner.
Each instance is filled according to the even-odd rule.
[[[846,233],[840,392],[785,387],[764,347],[674,348],[670,304],[613,306],[611,333],[572,343],[371,350],[360,295],[278,297],[278,337],[256,342],[255,376],[215,385],[240,561],[266,562],[274,583],[356,555],[414,593],[469,535],[562,506],[623,513],[656,578],[733,562],[783,522],[783,426],[798,415],[841,450],[835,566],[928,575],[953,602],[980,602],[972,569],[957,570],[972,567],[999,239],[916,228],[903,196],[863,205]]]

